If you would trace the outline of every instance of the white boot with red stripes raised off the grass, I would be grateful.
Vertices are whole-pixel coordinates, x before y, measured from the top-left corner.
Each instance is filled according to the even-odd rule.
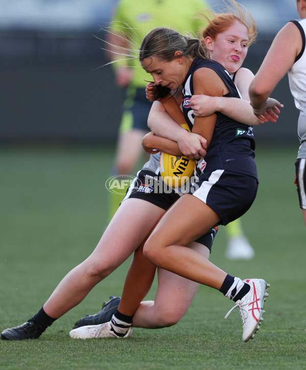
[[[244,283],[250,285],[250,290],[244,295],[241,300],[236,302],[236,305],[227,312],[224,318],[227,318],[232,311],[237,307],[239,308],[242,318],[242,339],[247,342],[249,339],[254,338],[254,334],[260,329],[261,322],[263,321],[264,301],[269,296],[267,284],[263,279],[246,279]]]

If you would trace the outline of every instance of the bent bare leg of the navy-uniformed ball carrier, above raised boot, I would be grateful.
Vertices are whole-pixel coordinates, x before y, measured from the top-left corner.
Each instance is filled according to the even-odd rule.
[[[191,194],[184,194],[165,213],[144,245],[144,255],[158,267],[220,289],[226,273],[196,251],[191,241],[217,225],[220,217]]]

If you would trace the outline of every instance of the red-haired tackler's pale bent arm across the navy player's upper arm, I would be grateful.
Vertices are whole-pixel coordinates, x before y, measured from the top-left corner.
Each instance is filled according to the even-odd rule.
[[[281,103],[275,101],[276,108],[269,110],[260,118],[254,116],[253,109],[249,104],[248,87],[254,75],[247,68],[240,68],[236,73],[235,83],[241,93],[242,99],[236,97],[193,95],[190,100],[194,115],[207,116],[214,112],[221,112],[224,115],[235,119],[247,126],[257,126],[263,122],[276,122]]]

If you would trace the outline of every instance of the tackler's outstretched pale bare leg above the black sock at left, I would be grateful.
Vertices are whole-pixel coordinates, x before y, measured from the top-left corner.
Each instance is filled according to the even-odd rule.
[[[124,201],[92,254],[73,268],[44,304],[44,311],[58,318],[78,305],[143,242],[164,210],[139,199]]]

